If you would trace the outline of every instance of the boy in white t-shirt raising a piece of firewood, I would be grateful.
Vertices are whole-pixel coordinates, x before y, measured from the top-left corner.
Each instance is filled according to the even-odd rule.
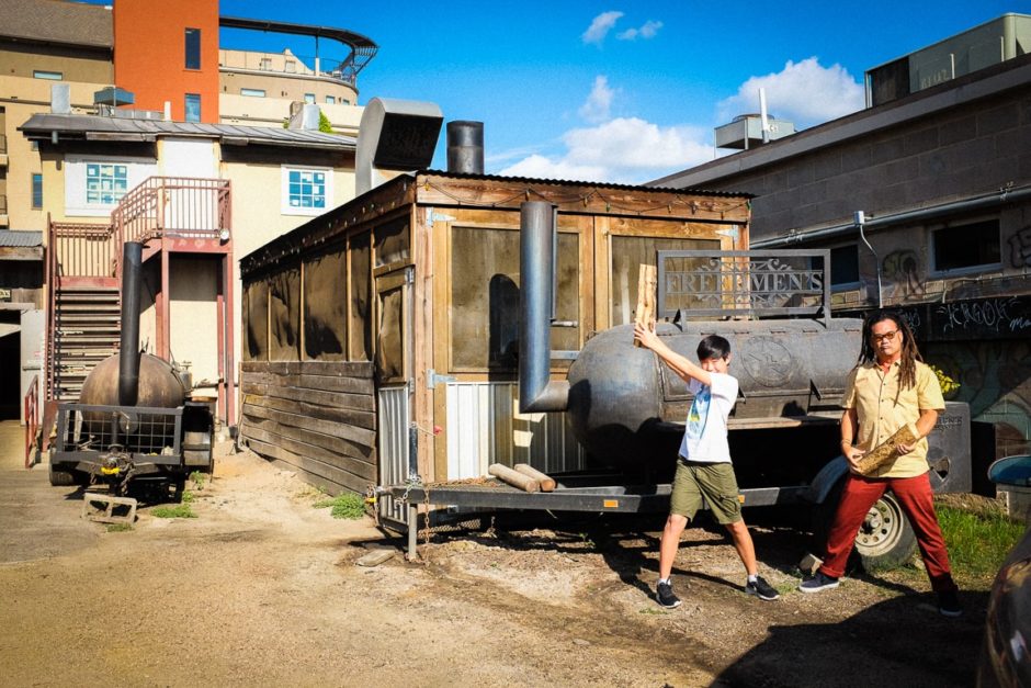
[[[680,535],[688,522],[702,508],[703,499],[726,527],[734,541],[748,578],[745,591],[762,600],[780,597],[777,589],[759,575],[756,548],[738,499],[737,478],[730,464],[727,444],[727,418],[737,402],[737,379],[727,374],[730,365],[730,342],[718,335],[709,335],[698,346],[698,365],[680,356],[655,334],[650,327],[636,325],[634,337],[652,349],[675,373],[688,383],[694,402],[688,413],[680,456],[670,495],[669,518],[659,545],[659,582],[655,598],[668,609],[680,606],[673,595],[669,576],[680,549]]]

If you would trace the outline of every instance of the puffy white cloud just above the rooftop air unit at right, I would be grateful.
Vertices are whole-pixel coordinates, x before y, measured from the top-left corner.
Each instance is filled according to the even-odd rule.
[[[788,60],[784,69],[764,77],[751,77],[737,95],[721,101],[720,121],[759,112],[759,89],[766,89],[771,115],[794,122],[797,128],[822,124],[862,110],[863,87],[840,65],[823,67],[816,57],[800,63]]]

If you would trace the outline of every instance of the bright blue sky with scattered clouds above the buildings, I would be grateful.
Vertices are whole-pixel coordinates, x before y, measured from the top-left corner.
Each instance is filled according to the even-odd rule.
[[[360,103],[426,100],[447,121],[483,121],[488,173],[625,183],[712,159],[713,127],[758,112],[759,86],[772,115],[807,128],[861,109],[866,69],[1006,12],[1031,13],[1031,0],[220,3],[369,36],[379,53]],[[224,46],[314,54],[242,35]]]

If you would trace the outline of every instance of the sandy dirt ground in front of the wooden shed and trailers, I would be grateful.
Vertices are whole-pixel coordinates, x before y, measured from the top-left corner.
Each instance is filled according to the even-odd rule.
[[[223,448],[225,449],[225,448]],[[66,686],[968,686],[986,595],[940,617],[918,571],[794,591],[805,541],[746,512],[762,575],[713,527],[680,549],[679,609],[655,605],[661,518],[498,518],[434,532],[428,564],[371,519],[335,520],[288,471],[219,456],[194,519],[80,518],[46,466],[0,462],[0,684]],[[704,526],[704,523],[703,523]]]

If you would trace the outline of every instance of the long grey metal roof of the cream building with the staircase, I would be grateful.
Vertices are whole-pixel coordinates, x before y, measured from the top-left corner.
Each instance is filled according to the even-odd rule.
[[[161,136],[181,136],[217,138],[226,145],[257,144],[338,150],[353,150],[356,143],[353,136],[275,126],[166,122],[79,114],[34,114],[18,128],[30,138],[49,138],[52,132],[57,132],[58,136],[86,140],[156,140]]]

